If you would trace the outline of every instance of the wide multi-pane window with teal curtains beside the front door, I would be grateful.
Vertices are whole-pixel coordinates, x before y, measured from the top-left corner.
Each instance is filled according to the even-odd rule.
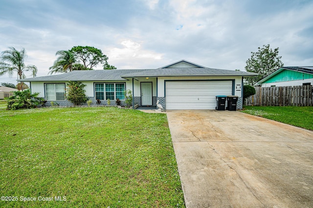
[[[94,91],[99,100],[125,100],[125,83],[96,83]]]

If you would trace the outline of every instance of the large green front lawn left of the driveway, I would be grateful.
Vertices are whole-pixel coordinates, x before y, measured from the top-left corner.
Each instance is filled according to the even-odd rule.
[[[4,108],[0,196],[19,201],[0,201],[0,207],[184,207],[166,114]]]

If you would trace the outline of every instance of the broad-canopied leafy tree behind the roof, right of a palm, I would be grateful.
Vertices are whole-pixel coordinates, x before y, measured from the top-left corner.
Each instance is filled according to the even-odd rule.
[[[102,54],[100,49],[91,46],[74,46],[70,51],[75,55],[76,58],[83,62],[83,65],[86,68],[92,69],[99,63],[104,65],[104,69],[115,68],[114,66],[108,64],[109,58]]]

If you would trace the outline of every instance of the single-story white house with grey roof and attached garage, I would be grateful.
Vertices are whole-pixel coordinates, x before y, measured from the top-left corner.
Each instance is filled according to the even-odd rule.
[[[66,100],[66,84],[80,81],[86,85],[86,95],[115,104],[119,98],[125,103],[125,90],[131,90],[134,104],[156,106],[159,100],[164,109],[215,109],[216,95],[237,95],[237,108],[242,108],[243,78],[256,73],[211,69],[180,60],[158,69],[72,71],[65,74],[21,79],[30,82],[33,93],[39,92],[47,101],[60,106],[72,105]],[[50,105],[47,102],[46,105]]]

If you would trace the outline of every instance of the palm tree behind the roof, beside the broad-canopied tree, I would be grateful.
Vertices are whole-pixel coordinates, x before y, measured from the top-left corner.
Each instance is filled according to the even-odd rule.
[[[76,59],[72,52],[70,51],[57,51],[55,54],[59,56],[53,63],[53,66],[49,68],[49,74],[53,73],[67,73],[72,71],[73,65],[76,62]]]

